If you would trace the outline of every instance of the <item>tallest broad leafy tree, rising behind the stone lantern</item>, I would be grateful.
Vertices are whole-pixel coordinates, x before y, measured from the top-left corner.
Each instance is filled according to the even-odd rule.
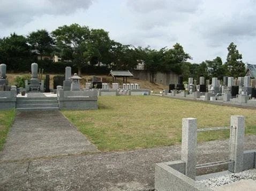
[[[65,60],[71,60],[78,68],[78,75],[81,69],[92,59],[94,46],[90,41],[90,30],[87,26],[72,24],[70,26],[58,27],[52,31],[56,39],[56,45],[61,50],[61,56]]]

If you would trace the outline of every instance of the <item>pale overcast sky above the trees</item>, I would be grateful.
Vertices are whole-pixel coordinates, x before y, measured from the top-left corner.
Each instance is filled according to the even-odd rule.
[[[49,32],[78,23],[102,28],[122,44],[171,48],[180,43],[192,63],[225,62],[231,42],[256,63],[256,0],[2,0],[0,37]]]

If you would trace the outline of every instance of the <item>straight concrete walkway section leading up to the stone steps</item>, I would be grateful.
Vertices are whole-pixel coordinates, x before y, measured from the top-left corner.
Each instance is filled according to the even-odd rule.
[[[60,112],[18,112],[0,162],[96,151]]]

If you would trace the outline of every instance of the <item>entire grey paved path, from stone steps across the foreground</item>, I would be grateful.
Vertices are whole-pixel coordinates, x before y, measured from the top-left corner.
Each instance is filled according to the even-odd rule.
[[[228,158],[228,143],[199,144],[198,162]],[[245,149],[255,148],[247,136]],[[59,112],[22,112],[0,153],[0,190],[153,190],[155,163],[175,160],[180,146],[96,152]]]

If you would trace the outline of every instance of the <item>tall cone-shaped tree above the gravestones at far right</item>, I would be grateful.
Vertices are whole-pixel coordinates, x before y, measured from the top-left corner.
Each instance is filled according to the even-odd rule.
[[[225,63],[228,69],[228,75],[232,77],[239,77],[245,75],[245,64],[242,61],[242,54],[237,50],[234,43],[228,46],[227,62]]]

